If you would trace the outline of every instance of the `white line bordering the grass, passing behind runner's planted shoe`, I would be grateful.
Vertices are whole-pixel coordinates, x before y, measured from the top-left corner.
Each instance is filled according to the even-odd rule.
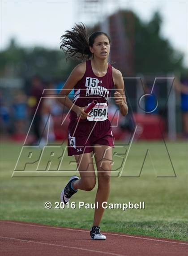
[[[47,229],[65,229],[65,230],[72,230],[72,231],[79,231],[79,232],[90,232],[87,230],[82,230],[82,229],[70,229],[70,228],[59,228],[59,227],[51,227],[51,226],[41,226],[41,225],[34,225],[34,224],[28,224],[28,223],[19,223],[19,222],[13,222],[13,221],[8,221],[8,220],[1,220],[0,222],[7,222],[7,223],[13,223],[16,225],[27,225],[27,226],[31,226],[31,227],[39,227],[39,228],[47,228]],[[125,234],[114,234],[114,233],[105,233],[103,232],[103,234],[107,234],[107,235],[113,235],[113,236],[123,236],[123,237],[128,237],[128,238],[137,238],[137,239],[143,239],[143,240],[150,240],[150,241],[157,241],[157,242],[162,242],[162,243],[175,243],[175,244],[183,244],[183,245],[187,245],[188,243],[183,243],[183,242],[174,242],[174,241],[165,241],[165,240],[159,240],[159,239],[153,239],[153,238],[143,238],[143,237],[138,237],[138,236],[131,236],[131,235],[125,235]]]

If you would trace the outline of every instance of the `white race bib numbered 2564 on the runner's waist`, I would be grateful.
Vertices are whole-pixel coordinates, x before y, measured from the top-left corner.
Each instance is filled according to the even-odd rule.
[[[90,105],[90,104],[89,104]],[[88,113],[91,117],[87,117],[88,121],[104,121],[107,120],[108,105],[107,103],[97,103]]]

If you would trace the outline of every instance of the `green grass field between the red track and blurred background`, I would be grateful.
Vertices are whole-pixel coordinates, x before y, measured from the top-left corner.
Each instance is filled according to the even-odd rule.
[[[177,177],[157,177],[174,176],[163,145],[163,142],[136,142],[132,146],[124,166],[124,176],[138,176],[147,148],[150,154],[145,159],[140,177],[111,179],[108,202],[145,201],[145,209],[107,209],[101,223],[103,231],[188,240],[187,143],[167,142]],[[0,219],[90,229],[94,215],[92,209],[47,210],[44,207],[46,201],[53,204],[59,201],[60,191],[68,178],[11,177],[21,147],[21,144],[1,143]],[[73,159],[66,157],[64,168],[68,169],[69,161]],[[116,169],[122,157],[115,155],[114,161],[113,168]],[[97,186],[90,192],[78,191],[72,201],[76,205],[79,201],[93,203],[96,189]]]

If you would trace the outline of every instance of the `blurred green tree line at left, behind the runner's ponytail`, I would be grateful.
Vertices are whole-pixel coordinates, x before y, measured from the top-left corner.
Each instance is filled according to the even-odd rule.
[[[36,46],[25,48],[12,39],[7,49],[0,52],[0,76],[21,77],[30,80],[39,75],[43,80],[64,80],[73,61],[66,62],[65,56],[58,50]]]

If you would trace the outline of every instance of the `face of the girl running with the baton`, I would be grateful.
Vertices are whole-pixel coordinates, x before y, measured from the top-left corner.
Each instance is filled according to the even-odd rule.
[[[108,55],[110,53],[110,43],[107,36],[97,36],[94,40],[93,47],[90,47],[90,51],[97,58],[108,58]]]

